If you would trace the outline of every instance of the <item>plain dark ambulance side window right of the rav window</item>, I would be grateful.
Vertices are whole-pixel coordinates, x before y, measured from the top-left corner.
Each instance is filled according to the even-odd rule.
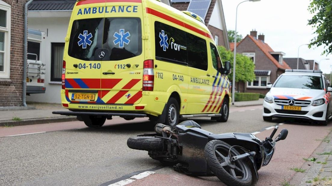
[[[188,66],[207,70],[207,43],[205,39],[187,33]]]

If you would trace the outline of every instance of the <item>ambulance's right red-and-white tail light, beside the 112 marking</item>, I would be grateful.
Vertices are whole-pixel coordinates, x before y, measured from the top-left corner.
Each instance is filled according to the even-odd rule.
[[[145,91],[153,91],[154,72],[153,60],[145,60],[143,63],[143,89]]]

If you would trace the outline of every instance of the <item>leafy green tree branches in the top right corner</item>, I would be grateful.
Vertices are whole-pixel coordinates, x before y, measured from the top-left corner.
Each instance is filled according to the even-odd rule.
[[[331,0],[313,0],[308,10],[313,17],[308,20],[308,25],[311,25],[315,29],[317,34],[311,43],[309,48],[312,46],[324,46],[323,54],[332,53],[332,1]]]

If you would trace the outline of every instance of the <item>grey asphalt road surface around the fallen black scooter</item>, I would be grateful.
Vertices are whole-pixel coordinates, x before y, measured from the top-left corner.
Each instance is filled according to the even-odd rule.
[[[231,108],[229,119],[225,123],[211,121],[209,118],[200,118],[196,121],[203,129],[217,134],[252,133],[284,122],[278,119],[272,122],[263,121],[261,108],[262,106]],[[314,138],[317,139],[324,136],[332,124],[321,127],[302,123],[292,124],[291,128],[294,133],[300,132],[298,128],[303,128],[302,125],[308,127],[303,132],[315,131]],[[44,133],[1,137],[33,132]],[[86,128],[83,122],[79,121],[0,128],[0,185],[108,185],[141,170],[154,170],[157,174],[143,179],[142,182],[134,182],[132,185],[156,185],[156,183],[170,185],[166,182],[169,180],[169,175],[172,176],[174,185],[184,183],[222,185],[216,177],[207,179],[189,177],[169,167],[162,168],[158,161],[149,158],[146,151],[132,150],[126,146],[129,137],[150,132],[153,132],[153,126],[145,118],[131,121],[114,118],[107,120],[101,129]],[[259,138],[263,139],[269,133],[271,132],[263,131],[259,134],[262,135]],[[298,134],[299,139],[294,138],[294,140],[301,140],[301,136]],[[294,140],[289,140],[287,143],[292,143]],[[300,153],[299,156],[302,156],[301,152],[304,156],[311,155],[315,146],[319,145],[317,140],[315,142],[308,142],[313,143],[311,148],[299,149],[297,151]],[[298,146],[298,144],[293,145]],[[287,148],[285,145],[283,147]],[[277,151],[281,153],[282,149],[277,147]],[[278,161],[284,161],[276,155],[274,158],[276,160],[274,166],[278,166]],[[274,166],[270,169],[278,169]],[[259,174],[268,177],[270,169],[264,167]],[[289,177],[290,174],[292,172],[288,172],[287,176]],[[149,179],[154,181],[151,183]],[[211,184],[211,181],[214,184]],[[280,183],[275,182],[276,180],[272,180],[268,184],[279,185]],[[260,185],[266,185],[266,182]]]

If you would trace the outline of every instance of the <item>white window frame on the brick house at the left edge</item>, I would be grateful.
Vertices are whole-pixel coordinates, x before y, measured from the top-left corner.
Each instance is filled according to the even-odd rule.
[[[6,11],[6,27],[0,26],[0,31],[4,32],[4,59],[3,71],[0,71],[0,78],[10,78],[10,46],[11,46],[11,6],[0,1],[0,10]]]

